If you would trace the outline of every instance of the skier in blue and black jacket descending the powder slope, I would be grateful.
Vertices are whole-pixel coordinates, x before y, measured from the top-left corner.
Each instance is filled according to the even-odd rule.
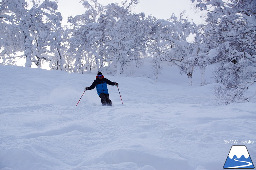
[[[109,99],[108,87],[107,84],[112,86],[118,86],[118,83],[112,82],[106,79],[101,72],[99,72],[94,80],[93,84],[90,87],[86,87],[86,90],[92,90],[96,87],[97,93],[101,98],[102,106],[112,106],[112,102]]]

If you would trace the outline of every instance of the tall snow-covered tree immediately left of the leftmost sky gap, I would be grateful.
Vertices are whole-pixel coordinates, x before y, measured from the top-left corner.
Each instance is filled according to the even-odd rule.
[[[33,62],[38,68],[41,67],[43,60],[52,61],[56,57],[55,50],[60,49],[62,17],[57,9],[56,2],[46,0],[40,5],[34,4],[28,11],[29,33],[33,36]],[[58,54],[58,57],[61,57],[60,51]],[[59,67],[63,68],[61,65]]]

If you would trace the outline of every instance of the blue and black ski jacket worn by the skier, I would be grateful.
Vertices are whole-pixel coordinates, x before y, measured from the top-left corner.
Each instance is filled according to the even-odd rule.
[[[96,87],[98,95],[101,93],[108,94],[108,87],[107,84],[115,86],[115,82],[112,82],[106,78],[103,78],[100,80],[98,76],[96,76],[96,79],[94,80],[93,84],[87,88],[87,90],[92,90]]]

